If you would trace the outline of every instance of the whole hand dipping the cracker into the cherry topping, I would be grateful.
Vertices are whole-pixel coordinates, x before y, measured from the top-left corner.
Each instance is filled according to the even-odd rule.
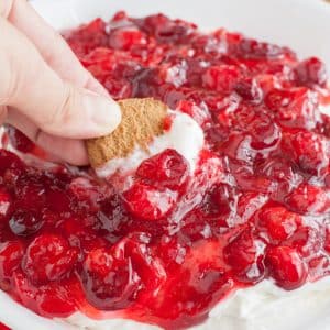
[[[119,106],[25,0],[0,0],[0,120],[63,161],[88,163],[82,139],[109,134]]]

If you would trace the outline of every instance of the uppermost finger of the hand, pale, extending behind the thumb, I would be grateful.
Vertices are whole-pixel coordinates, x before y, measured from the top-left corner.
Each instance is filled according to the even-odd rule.
[[[103,86],[82,67],[61,34],[51,28],[26,1],[0,1],[0,15],[1,12],[34,43],[45,62],[62,79],[109,97]]]

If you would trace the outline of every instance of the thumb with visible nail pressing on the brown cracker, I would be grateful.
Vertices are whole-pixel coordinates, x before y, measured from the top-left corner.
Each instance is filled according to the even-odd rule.
[[[0,18],[0,106],[20,109],[42,131],[72,139],[111,133],[121,120],[119,106],[63,81],[33,44]]]

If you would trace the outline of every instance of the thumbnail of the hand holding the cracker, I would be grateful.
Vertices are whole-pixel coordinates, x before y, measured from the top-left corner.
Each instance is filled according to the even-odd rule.
[[[84,105],[89,118],[98,127],[100,134],[109,134],[120,124],[121,110],[116,101],[88,92],[84,97]]]

